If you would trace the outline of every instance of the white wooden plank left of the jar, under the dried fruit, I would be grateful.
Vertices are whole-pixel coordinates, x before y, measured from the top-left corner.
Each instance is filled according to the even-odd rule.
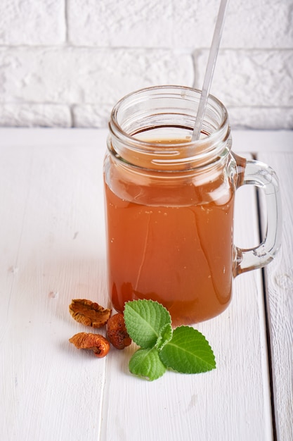
[[[101,156],[11,147],[0,167],[0,439],[97,440],[105,359],[68,342],[68,305],[108,303]]]

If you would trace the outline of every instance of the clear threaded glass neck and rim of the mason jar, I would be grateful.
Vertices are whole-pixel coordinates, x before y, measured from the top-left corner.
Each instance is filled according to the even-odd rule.
[[[207,100],[203,136],[192,139],[200,97],[199,89],[179,85],[146,87],[127,94],[112,109],[108,148],[132,165],[142,166],[143,159],[148,167],[160,170],[187,163],[191,168],[204,166],[217,156],[226,156],[228,112],[213,95]],[[150,137],[141,139],[138,133]]]

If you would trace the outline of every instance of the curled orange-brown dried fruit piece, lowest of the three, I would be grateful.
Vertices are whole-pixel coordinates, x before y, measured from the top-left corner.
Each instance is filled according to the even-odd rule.
[[[91,349],[101,359],[110,351],[110,343],[100,334],[78,333],[69,339],[77,349]]]

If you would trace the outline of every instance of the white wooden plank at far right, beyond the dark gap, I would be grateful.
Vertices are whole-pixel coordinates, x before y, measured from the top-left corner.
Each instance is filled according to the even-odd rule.
[[[261,153],[280,179],[282,247],[266,268],[268,323],[273,361],[273,397],[278,440],[293,440],[293,144],[292,154]]]

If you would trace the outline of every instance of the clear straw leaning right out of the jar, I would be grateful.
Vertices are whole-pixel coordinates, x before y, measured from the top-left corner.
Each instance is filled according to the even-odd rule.
[[[204,120],[204,112],[207,107],[207,99],[209,97],[209,89],[211,88],[211,81],[214,75],[214,68],[216,66],[216,58],[219,52],[219,46],[223,33],[223,25],[226,15],[226,8],[228,0],[221,0],[219,7],[218,18],[216,19],[216,26],[214,36],[211,42],[211,49],[209,50],[209,59],[207,61],[207,69],[204,75],[204,84],[202,85],[202,94],[200,96],[200,104],[197,109],[197,116],[195,120],[195,127],[193,129],[193,141],[199,139],[202,131],[202,123]]]

